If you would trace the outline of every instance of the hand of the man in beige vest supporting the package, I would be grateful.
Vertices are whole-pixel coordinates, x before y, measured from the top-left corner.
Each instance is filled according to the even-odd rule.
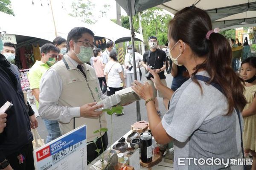
[[[95,111],[96,109],[102,108],[103,105],[97,105],[97,102],[88,103],[80,107],[81,117],[98,117],[102,114],[102,111]]]

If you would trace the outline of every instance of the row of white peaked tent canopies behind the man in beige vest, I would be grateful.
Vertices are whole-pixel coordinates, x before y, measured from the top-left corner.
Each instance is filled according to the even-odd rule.
[[[0,12],[0,17],[2,18],[2,24],[0,25],[1,31],[6,31],[6,34],[35,37],[50,42],[56,37],[55,26],[57,35],[65,39],[67,39],[68,32],[78,26],[89,28],[94,32],[96,37],[105,37],[114,42],[130,40],[131,36],[130,30],[107,19],[101,20],[91,26],[68,14],[58,13],[54,14],[54,26],[52,14],[49,11],[46,13],[17,17]],[[136,40],[143,41],[141,34],[136,33],[136,35]]]

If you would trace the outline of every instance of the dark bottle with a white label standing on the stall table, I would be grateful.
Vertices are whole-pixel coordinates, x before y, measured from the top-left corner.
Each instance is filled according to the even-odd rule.
[[[148,133],[143,133],[140,136],[140,158],[141,161],[144,163],[148,163],[152,161],[152,137]]]

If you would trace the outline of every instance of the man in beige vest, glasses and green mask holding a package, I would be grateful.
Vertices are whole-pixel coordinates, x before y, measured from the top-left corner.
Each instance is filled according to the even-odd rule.
[[[98,156],[96,149],[102,152],[108,146],[106,132],[93,133],[107,127],[105,113],[95,111],[102,108],[96,103],[107,96],[102,94],[93,67],[86,64],[93,56],[93,43],[94,34],[91,30],[73,28],[67,36],[68,52],[42,77],[39,96],[39,114],[46,119],[58,120],[62,135],[86,124],[87,142],[98,137],[98,148],[95,144],[87,145],[89,162]]]

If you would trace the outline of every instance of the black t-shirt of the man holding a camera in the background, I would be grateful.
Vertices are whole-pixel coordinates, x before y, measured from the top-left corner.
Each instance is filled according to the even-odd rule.
[[[152,66],[152,69],[159,69],[163,67],[163,63],[166,61],[166,53],[163,50],[157,49],[156,51],[152,52],[150,51],[150,57],[148,58],[148,52],[146,51],[143,54],[143,62],[147,63],[147,65]],[[157,53],[157,55],[156,55]],[[155,58],[156,56],[156,58]],[[149,61],[148,61],[149,60]],[[165,79],[164,71],[161,71],[158,73],[160,79]],[[153,77],[150,74],[150,77]],[[150,79],[150,77],[147,77],[147,79]]]

